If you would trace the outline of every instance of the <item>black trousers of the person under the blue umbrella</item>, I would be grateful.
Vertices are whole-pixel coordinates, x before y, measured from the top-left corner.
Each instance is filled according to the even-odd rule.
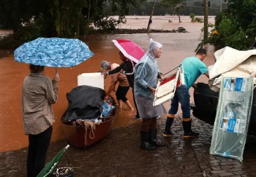
[[[50,145],[50,137],[53,127],[38,135],[28,135],[28,158],[27,158],[27,176],[35,177],[40,173],[46,164],[46,153]]]

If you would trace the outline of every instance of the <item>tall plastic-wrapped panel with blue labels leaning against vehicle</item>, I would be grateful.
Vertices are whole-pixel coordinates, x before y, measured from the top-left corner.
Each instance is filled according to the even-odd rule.
[[[252,109],[252,78],[223,77],[210,154],[242,161]]]

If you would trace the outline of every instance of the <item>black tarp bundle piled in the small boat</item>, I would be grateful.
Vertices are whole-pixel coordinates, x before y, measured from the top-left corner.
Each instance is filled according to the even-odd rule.
[[[67,93],[68,109],[63,121],[100,118],[105,91],[94,86],[78,86]]]

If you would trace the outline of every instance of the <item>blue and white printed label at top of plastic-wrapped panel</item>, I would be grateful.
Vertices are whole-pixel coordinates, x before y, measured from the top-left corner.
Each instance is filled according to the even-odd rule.
[[[224,80],[223,88],[228,91],[245,91],[246,84],[246,78],[228,78]]]

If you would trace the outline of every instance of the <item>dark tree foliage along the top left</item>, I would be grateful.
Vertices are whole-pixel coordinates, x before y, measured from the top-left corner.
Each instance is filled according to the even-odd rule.
[[[0,28],[13,29],[16,40],[23,41],[38,36],[78,38],[93,25],[113,30],[136,5],[136,0],[0,0]],[[114,14],[119,19],[112,18]]]

